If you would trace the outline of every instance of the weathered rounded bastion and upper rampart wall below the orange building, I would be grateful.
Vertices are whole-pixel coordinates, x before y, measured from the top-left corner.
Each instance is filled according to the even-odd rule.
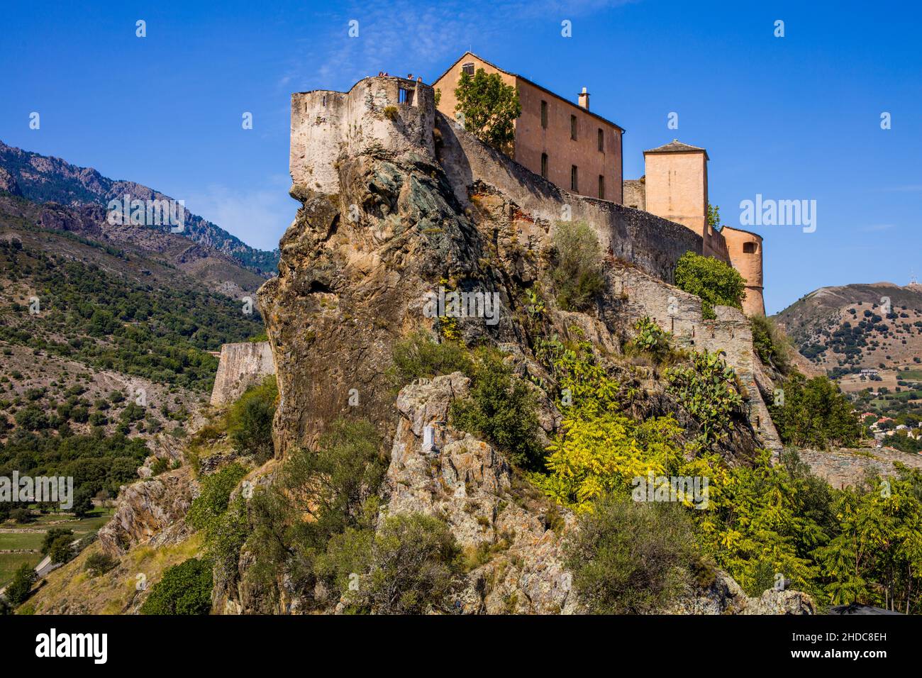
[[[399,102],[400,90],[406,102]],[[385,109],[390,110],[390,116]],[[436,153],[435,139],[439,139]],[[663,280],[688,250],[701,254],[703,240],[680,224],[641,209],[577,196],[542,179],[435,111],[428,85],[401,77],[368,77],[349,92],[314,90],[291,97],[290,172],[294,184],[340,193],[337,158],[370,149],[416,155],[441,164],[455,196],[469,206],[482,182],[509,196],[534,219],[554,223],[585,220],[602,246]]]

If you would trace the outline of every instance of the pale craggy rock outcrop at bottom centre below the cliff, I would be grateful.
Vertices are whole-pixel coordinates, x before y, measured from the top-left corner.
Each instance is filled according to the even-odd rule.
[[[467,377],[437,376],[404,388],[386,475],[384,516],[420,512],[441,517],[468,556],[485,562],[467,574],[455,599],[463,613],[579,612],[572,577],[561,561],[561,539],[573,516],[527,484],[516,487],[509,463],[493,447],[448,426]],[[423,448],[434,422],[435,446]]]

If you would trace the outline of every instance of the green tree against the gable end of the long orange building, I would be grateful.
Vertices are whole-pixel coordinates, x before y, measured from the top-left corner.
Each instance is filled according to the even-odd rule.
[[[494,149],[512,155],[514,121],[522,114],[518,91],[502,82],[499,73],[478,68],[473,76],[461,74],[455,89],[455,112],[463,113],[464,128]]]

